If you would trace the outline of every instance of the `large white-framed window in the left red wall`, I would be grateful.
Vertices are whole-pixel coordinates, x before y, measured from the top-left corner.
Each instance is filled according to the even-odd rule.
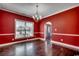
[[[34,23],[16,19],[15,21],[15,39],[33,37]]]

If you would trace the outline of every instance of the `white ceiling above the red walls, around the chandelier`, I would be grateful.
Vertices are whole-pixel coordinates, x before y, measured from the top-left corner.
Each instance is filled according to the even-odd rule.
[[[44,18],[72,6],[79,6],[79,3],[38,3],[38,5],[39,14]],[[0,3],[0,7],[29,17],[34,16],[36,12],[36,3]]]

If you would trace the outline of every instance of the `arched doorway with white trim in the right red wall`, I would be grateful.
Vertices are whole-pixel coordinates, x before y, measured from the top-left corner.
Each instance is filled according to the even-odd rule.
[[[52,24],[51,22],[47,22],[44,27],[44,38],[47,43],[50,43],[52,38]]]

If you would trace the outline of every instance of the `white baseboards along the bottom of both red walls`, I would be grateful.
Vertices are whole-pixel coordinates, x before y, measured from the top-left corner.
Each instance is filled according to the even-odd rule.
[[[33,41],[33,40],[45,41],[44,38],[33,38],[33,39],[29,39],[29,40],[27,39],[27,40],[22,40],[22,41],[16,41],[16,42],[11,42],[11,43],[0,44],[0,47],[4,47],[4,46],[16,44],[16,43]],[[57,42],[57,41],[53,41],[53,40],[51,40],[51,43],[55,44],[55,45],[58,45],[58,46],[63,46],[63,47],[69,48],[69,49],[73,49],[73,50],[79,51],[79,47],[78,46],[74,46],[74,45],[70,45],[70,44],[66,44],[66,43],[62,43],[62,42]]]

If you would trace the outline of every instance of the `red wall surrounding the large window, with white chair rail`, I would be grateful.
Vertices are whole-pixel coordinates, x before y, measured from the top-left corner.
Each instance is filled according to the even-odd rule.
[[[0,34],[15,33],[15,19],[16,18],[22,19],[25,21],[29,21],[29,22],[34,22],[34,27],[35,27],[34,32],[38,31],[37,22],[35,22],[32,18],[0,10]],[[36,35],[37,34],[35,34],[34,37],[37,37]],[[14,42],[14,41],[18,41],[18,40],[25,40],[27,38],[18,39],[18,40],[15,40],[15,39],[12,40],[12,39],[14,39],[14,35],[3,35],[3,36],[0,35],[0,44]]]

